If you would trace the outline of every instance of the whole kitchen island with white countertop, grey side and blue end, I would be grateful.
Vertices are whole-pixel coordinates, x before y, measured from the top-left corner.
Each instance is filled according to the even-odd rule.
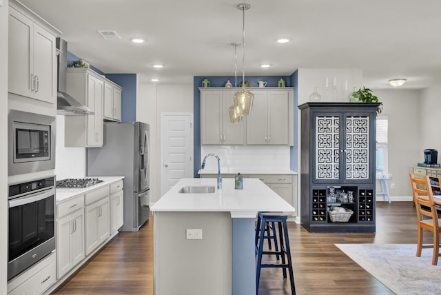
[[[257,212],[294,207],[259,179],[243,179],[243,190],[234,179],[212,193],[180,192],[187,186],[216,179],[181,179],[152,206],[154,294],[256,294]]]

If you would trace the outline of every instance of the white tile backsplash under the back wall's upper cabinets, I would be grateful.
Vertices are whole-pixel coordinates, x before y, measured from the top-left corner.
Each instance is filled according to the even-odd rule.
[[[288,146],[203,145],[201,147],[201,161],[206,154],[217,154],[222,168],[289,170]],[[215,159],[210,158],[207,161],[215,162]],[[210,164],[210,167],[211,165],[213,164]]]

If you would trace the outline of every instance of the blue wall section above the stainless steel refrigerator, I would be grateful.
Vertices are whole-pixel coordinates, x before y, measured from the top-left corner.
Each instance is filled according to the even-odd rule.
[[[136,74],[105,74],[123,88],[121,93],[121,123],[136,121]]]

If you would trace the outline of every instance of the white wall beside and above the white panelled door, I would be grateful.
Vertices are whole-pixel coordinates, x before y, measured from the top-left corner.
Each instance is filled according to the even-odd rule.
[[[161,113],[193,113],[193,84],[138,85],[136,121],[150,124],[150,202],[161,197]]]

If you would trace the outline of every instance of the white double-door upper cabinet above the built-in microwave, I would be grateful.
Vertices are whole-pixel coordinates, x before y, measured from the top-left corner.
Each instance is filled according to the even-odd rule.
[[[55,35],[10,6],[8,92],[57,103]]]

